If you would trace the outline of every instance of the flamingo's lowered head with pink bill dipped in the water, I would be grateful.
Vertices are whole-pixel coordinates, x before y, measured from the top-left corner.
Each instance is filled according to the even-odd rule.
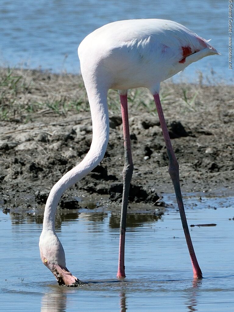
[[[39,242],[41,261],[53,273],[61,286],[84,285],[66,268],[63,246],[53,231],[42,231]]]

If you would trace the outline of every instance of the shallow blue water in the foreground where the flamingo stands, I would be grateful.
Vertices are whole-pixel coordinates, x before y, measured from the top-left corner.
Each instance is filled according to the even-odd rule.
[[[124,280],[115,278],[119,216],[111,212],[58,215],[56,231],[67,267],[90,282],[78,288],[58,286],[42,265],[41,216],[1,212],[1,310],[233,311],[234,198],[185,196],[185,201],[188,225],[217,224],[189,227],[204,275],[197,281],[173,199],[170,212],[161,219],[150,214],[129,217]]]

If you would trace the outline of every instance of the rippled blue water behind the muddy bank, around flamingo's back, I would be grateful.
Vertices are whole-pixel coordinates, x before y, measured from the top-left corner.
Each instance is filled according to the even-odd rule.
[[[161,18],[183,24],[222,54],[209,56],[184,71],[194,82],[202,71],[213,83],[230,83],[228,70],[228,1],[219,0],[1,0],[0,64],[78,73],[77,47],[85,36],[110,22]],[[233,40],[232,40],[233,41]],[[179,80],[178,76],[176,78]]]

